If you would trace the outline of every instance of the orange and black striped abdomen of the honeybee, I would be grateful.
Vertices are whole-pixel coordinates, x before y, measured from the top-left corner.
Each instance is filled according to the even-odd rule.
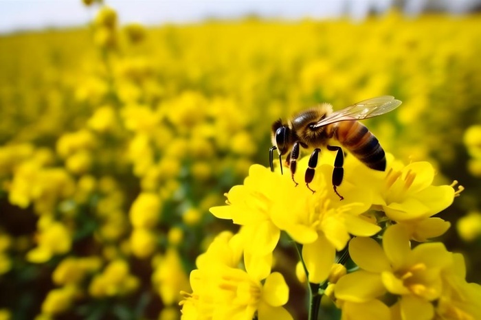
[[[366,126],[357,121],[339,122],[337,140],[369,168],[385,170],[385,153],[379,141]]]

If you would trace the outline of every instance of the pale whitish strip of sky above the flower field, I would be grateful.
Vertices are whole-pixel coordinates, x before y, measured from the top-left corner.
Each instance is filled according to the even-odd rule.
[[[190,23],[208,17],[230,19],[247,14],[270,18],[314,19],[348,14],[362,19],[370,7],[378,12],[394,0],[104,0],[117,10],[121,23],[146,25]],[[426,3],[439,3],[451,11],[463,12],[481,0],[405,0],[407,10],[416,14]],[[0,0],[0,33],[45,27],[85,25],[96,8],[80,0]]]

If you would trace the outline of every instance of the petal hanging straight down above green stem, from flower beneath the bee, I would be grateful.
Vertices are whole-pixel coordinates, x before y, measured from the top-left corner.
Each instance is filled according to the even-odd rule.
[[[309,282],[320,284],[327,279],[334,263],[336,250],[324,235],[320,235],[315,242],[304,244],[302,258],[309,272]]]

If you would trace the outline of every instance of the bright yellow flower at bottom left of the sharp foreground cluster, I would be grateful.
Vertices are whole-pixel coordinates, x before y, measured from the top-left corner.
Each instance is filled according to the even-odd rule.
[[[182,318],[245,319],[257,312],[258,319],[293,319],[282,308],[289,287],[280,273],[260,279],[237,268],[242,255],[242,237],[221,233],[208,251],[197,258],[198,269],[190,273],[193,293],[181,301]]]

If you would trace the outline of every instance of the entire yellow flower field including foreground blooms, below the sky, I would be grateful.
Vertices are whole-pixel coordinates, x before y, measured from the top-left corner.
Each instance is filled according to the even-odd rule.
[[[476,15],[0,36],[0,319],[480,319],[480,56]],[[278,118],[382,95],[343,201],[335,152],[269,170]]]

